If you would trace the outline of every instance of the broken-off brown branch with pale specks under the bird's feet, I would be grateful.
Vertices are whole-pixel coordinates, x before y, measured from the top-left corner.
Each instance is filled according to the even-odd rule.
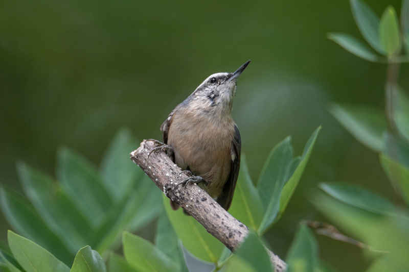
[[[138,164],[173,202],[183,207],[205,229],[222,242],[228,249],[235,251],[248,234],[248,228],[230,213],[224,210],[209,194],[197,185],[176,186],[188,176],[174,164],[165,152],[152,152],[157,146],[152,140],[144,140],[141,146],[133,151],[131,160]],[[276,272],[283,272],[286,263],[277,255],[268,251],[271,263]]]

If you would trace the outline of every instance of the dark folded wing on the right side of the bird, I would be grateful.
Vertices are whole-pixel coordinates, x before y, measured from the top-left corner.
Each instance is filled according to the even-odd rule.
[[[217,203],[220,204],[225,210],[230,208],[233,200],[234,188],[236,187],[237,177],[239,176],[240,168],[240,152],[241,152],[241,138],[240,132],[236,125],[234,125],[234,138],[232,141],[232,161],[229,177],[223,186],[223,190],[219,197],[217,197]]]

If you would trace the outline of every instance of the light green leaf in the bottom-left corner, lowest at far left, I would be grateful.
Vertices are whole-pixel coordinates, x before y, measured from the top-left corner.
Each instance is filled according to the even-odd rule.
[[[14,257],[27,272],[69,272],[70,268],[38,244],[12,231],[7,239]]]

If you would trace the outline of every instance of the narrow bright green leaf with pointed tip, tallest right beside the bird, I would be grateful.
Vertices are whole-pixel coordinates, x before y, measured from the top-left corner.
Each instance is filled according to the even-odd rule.
[[[295,158],[292,161],[292,164],[290,165],[290,168],[294,168],[295,170],[290,170],[291,173],[291,178],[286,182],[284,185],[283,190],[281,191],[281,196],[280,196],[280,209],[278,212],[278,216],[276,218],[276,221],[278,218],[281,217],[281,215],[284,213],[285,208],[288,205],[288,202],[290,201],[290,198],[296,190],[296,187],[301,179],[301,176],[303,175],[305,166],[307,165],[307,162],[310,158],[312,148],[314,147],[316,138],[318,136],[318,133],[320,132],[321,127],[318,127],[311,135],[311,137],[308,139],[307,143],[304,146],[304,151],[303,155],[301,158]],[[297,168],[295,168],[297,167]]]

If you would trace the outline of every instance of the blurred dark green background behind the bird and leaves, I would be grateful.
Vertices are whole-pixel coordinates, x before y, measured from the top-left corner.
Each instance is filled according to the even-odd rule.
[[[389,4],[399,14],[401,5],[366,2],[378,15]],[[238,82],[233,116],[254,180],[277,142],[292,135],[301,154],[323,125],[286,213],[266,235],[275,253],[285,258],[301,219],[325,221],[308,201],[318,182],[346,181],[393,197],[378,155],[327,111],[331,103],[384,104],[385,65],[326,38],[328,32],[360,37],[349,1],[2,4],[0,180],[9,187],[20,190],[17,160],[54,173],[61,145],[99,164],[121,127],[139,139],[161,139],[162,121],[203,79],[251,59]],[[407,71],[403,65],[406,89]],[[9,226],[0,216],[5,241]],[[321,257],[340,271],[369,264],[352,245],[318,239]]]

